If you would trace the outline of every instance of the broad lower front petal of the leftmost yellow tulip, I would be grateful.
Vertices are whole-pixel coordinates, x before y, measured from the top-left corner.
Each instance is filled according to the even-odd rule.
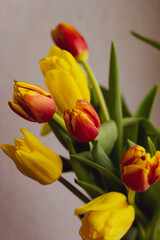
[[[61,175],[61,169],[53,160],[39,152],[27,153],[22,150],[16,152],[17,167],[26,176],[40,184],[50,184]]]

